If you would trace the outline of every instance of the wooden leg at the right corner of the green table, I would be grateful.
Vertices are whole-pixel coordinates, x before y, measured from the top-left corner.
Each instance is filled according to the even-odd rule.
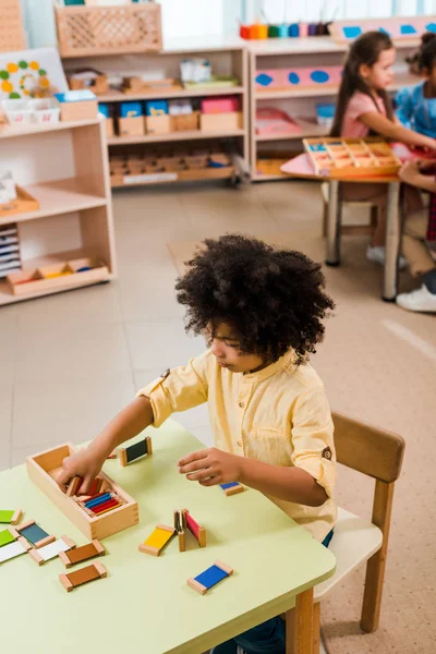
[[[296,595],[295,608],[286,613],[286,654],[313,654],[313,589]]]

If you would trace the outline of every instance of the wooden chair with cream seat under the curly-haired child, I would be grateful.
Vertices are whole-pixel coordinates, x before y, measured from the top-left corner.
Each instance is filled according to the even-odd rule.
[[[335,444],[339,463],[375,479],[372,521],[338,509],[338,521],[329,549],[335,554],[335,574],[314,589],[313,654],[319,654],[320,602],[337,583],[367,561],[361,615],[361,628],[378,628],[383,582],[389,542],[393,486],[400,476],[404,440],[397,434],[370,426],[340,413],[334,413]],[[302,615],[302,611],[299,611]],[[292,638],[295,619],[287,611],[287,641]],[[288,631],[289,627],[289,631]],[[287,642],[287,651],[291,644]]]

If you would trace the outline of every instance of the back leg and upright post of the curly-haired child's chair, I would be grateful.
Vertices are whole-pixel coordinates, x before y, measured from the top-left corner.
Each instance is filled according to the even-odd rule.
[[[376,481],[373,523],[383,532],[383,544],[366,564],[365,592],[363,596],[361,628],[371,633],[378,628],[380,619],[383,582],[389,543],[390,513],[392,510],[393,483]]]

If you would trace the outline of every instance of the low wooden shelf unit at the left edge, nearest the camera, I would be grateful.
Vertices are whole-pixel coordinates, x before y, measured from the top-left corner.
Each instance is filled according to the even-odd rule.
[[[22,269],[90,257],[102,261],[109,270],[107,279],[113,279],[114,235],[102,119],[40,128],[4,125],[0,128],[0,150],[3,167],[11,169],[16,183],[39,203],[33,211],[0,211],[0,226],[17,223]],[[14,295],[2,279],[0,305],[89,283],[86,276],[71,283],[63,278],[59,287]]]

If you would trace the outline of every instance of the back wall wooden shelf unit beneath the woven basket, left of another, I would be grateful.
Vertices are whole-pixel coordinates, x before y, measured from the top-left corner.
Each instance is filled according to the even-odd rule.
[[[216,43],[214,43],[214,40]],[[63,64],[66,69],[73,71],[80,68],[93,68],[99,71],[110,71],[114,74],[125,75],[129,71],[131,78],[140,78],[141,75],[148,71],[159,71],[159,76],[168,80],[178,80],[180,77],[180,63],[185,58],[205,58],[209,60],[214,75],[219,76],[235,76],[239,80],[238,86],[193,86],[189,85],[184,88],[182,85],[167,85],[162,88],[141,88],[132,87],[129,93],[121,90],[109,90],[107,94],[98,96],[98,101],[112,107],[112,114],[120,113],[119,108],[121,102],[131,100],[170,100],[170,99],[192,99],[193,113],[179,116],[144,116],[144,121],[141,118],[137,120],[137,130],[129,131],[123,134],[122,130],[117,130],[108,137],[109,157],[117,157],[120,150],[125,146],[132,148],[132,154],[135,146],[144,145],[144,152],[153,152],[155,144],[174,144],[175,146],[182,142],[183,147],[191,148],[193,152],[201,148],[206,140],[216,140],[218,144],[220,140],[228,140],[228,152],[238,154],[249,167],[249,95],[247,95],[247,51],[245,44],[240,39],[226,39],[211,37],[210,39],[202,39],[202,43],[193,44],[192,39],[178,39],[173,44],[166,44],[166,48],[159,53],[143,52],[136,53],[135,57],[113,57],[107,52],[105,57],[76,57],[73,59],[64,59]],[[196,110],[199,106],[199,99],[214,96],[238,96],[240,100],[240,111],[238,114],[217,114],[216,120],[210,116],[201,114]],[[144,111],[145,112],[145,111]],[[132,119],[124,119],[132,120]],[[117,121],[120,122],[120,121]],[[149,147],[148,147],[149,146]],[[207,174],[205,174],[207,173]],[[234,174],[234,167],[227,167],[227,170],[207,170],[202,171],[196,175],[195,171],[187,171],[185,175],[178,175],[177,179],[194,180],[194,179],[214,179],[226,177],[231,179]],[[164,177],[153,178],[152,175],[134,175],[133,183],[153,183],[155,179],[158,183],[164,181],[174,181],[174,174],[171,172]],[[131,180],[132,181],[132,180]],[[126,182],[126,183],[130,183]],[[118,180],[113,179],[112,186],[122,185]]]

